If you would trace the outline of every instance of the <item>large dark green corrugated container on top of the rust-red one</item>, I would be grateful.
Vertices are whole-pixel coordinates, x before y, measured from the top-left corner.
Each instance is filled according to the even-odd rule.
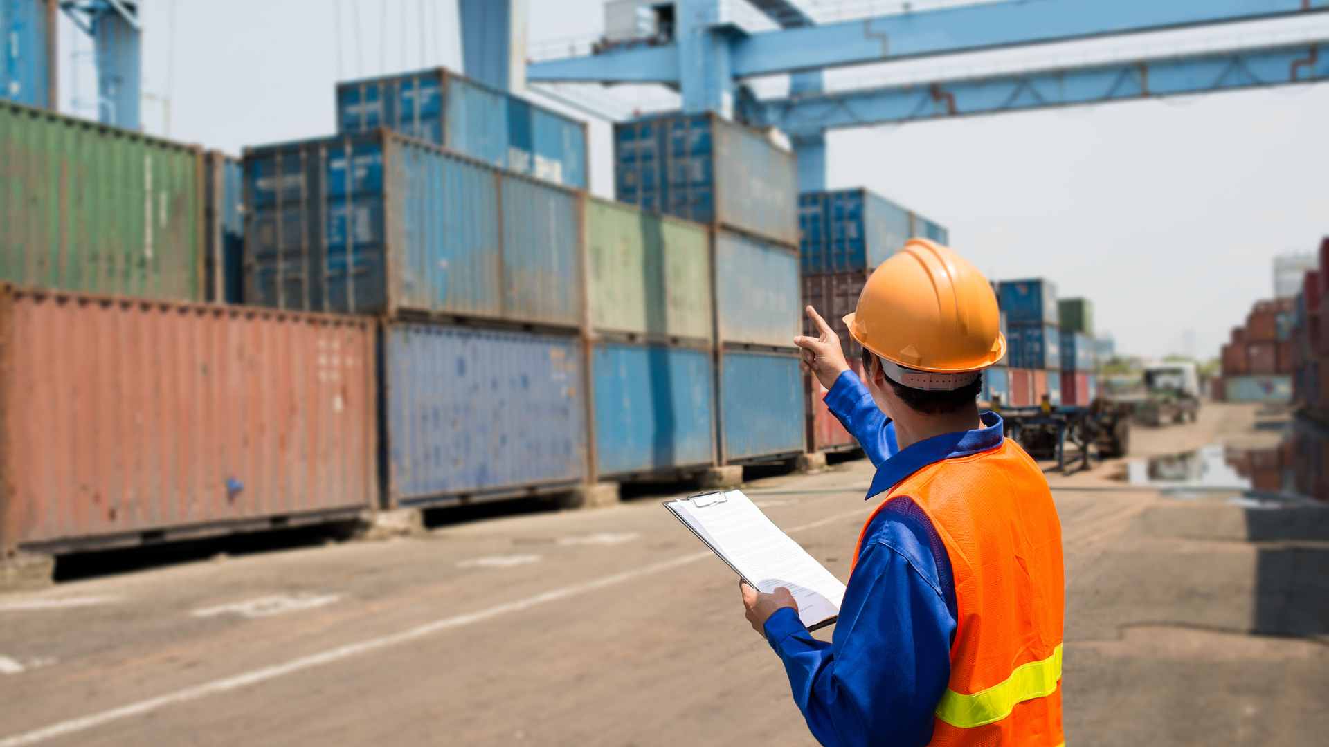
[[[202,300],[202,152],[0,101],[0,280]]]

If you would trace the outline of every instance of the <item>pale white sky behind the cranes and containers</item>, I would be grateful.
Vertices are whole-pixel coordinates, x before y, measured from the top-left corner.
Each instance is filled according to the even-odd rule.
[[[533,43],[602,28],[601,0],[529,3]],[[146,129],[235,154],[332,133],[339,76],[461,62],[455,0],[144,5],[145,89],[170,98],[169,133],[154,104]],[[94,85],[86,64],[61,64],[68,110]],[[1213,356],[1272,294],[1272,258],[1329,234],[1326,121],[1318,84],[841,130],[829,186],[868,186],[946,225],[993,278],[1041,275],[1091,298],[1119,350]],[[609,126],[591,132],[591,189],[607,195]]]

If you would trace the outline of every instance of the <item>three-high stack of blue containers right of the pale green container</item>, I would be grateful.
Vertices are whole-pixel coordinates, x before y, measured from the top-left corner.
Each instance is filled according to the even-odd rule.
[[[793,156],[715,114],[678,113],[615,125],[614,150],[621,202],[710,230],[718,460],[803,452]]]

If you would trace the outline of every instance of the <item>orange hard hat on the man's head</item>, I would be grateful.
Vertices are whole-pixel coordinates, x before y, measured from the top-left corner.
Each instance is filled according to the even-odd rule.
[[[896,364],[890,368],[922,372],[898,383],[924,389],[958,388],[974,379],[924,374],[977,374],[1006,355],[987,278],[929,239],[909,239],[877,266],[844,323],[860,346]]]

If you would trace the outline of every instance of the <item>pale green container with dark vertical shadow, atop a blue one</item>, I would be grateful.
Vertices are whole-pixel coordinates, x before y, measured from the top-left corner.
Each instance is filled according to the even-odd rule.
[[[711,242],[703,226],[589,198],[586,246],[593,328],[712,339]]]

